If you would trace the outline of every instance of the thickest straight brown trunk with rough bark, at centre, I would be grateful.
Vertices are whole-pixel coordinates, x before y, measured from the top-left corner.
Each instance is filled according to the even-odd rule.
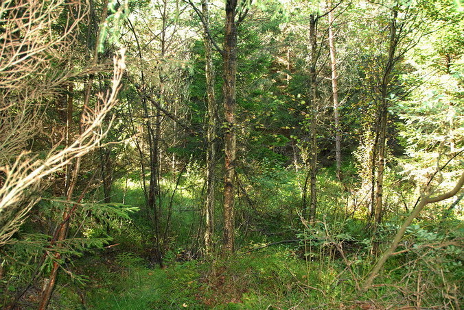
[[[237,0],[227,0],[224,52],[224,253],[234,250],[234,190],[235,190],[235,75],[237,73],[237,28],[235,25]]]

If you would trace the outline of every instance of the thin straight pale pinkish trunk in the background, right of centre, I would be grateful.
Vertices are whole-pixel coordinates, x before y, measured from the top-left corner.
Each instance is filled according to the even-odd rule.
[[[342,151],[340,146],[340,115],[339,115],[339,103],[338,103],[338,74],[337,74],[337,60],[334,43],[334,12],[329,11],[329,48],[330,48],[330,64],[332,68],[332,99],[334,101],[334,124],[335,124],[335,157],[336,157],[336,169],[338,180],[341,180],[341,166],[342,166]]]

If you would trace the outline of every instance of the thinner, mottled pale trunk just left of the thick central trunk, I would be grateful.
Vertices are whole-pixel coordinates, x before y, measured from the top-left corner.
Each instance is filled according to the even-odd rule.
[[[214,95],[214,68],[213,68],[213,50],[211,41],[208,38],[207,31],[209,27],[209,8],[208,1],[202,1],[202,13],[205,19],[203,40],[205,41],[205,77],[206,77],[206,101],[208,107],[207,115],[207,192],[205,199],[205,250],[211,253],[212,238],[214,233],[214,188],[216,174],[216,117],[218,107]]]

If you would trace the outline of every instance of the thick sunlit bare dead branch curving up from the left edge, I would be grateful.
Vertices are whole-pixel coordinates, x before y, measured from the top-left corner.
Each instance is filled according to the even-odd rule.
[[[82,157],[97,148],[108,133],[113,120],[104,127],[104,120],[117,103],[121,78],[125,69],[124,51],[115,56],[112,88],[100,94],[100,103],[95,109],[87,109],[83,115],[82,133],[66,148],[56,147],[46,159],[28,157],[27,152],[18,155],[12,164],[0,167],[4,181],[0,188],[0,246],[5,244],[19,229],[28,212],[38,198],[27,201],[28,195],[36,190],[40,181],[65,168],[73,159]],[[27,201],[27,203],[24,203]]]

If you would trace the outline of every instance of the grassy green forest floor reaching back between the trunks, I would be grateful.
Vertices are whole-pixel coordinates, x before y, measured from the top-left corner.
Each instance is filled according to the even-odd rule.
[[[265,176],[264,180],[251,180],[254,186],[248,190],[248,198],[257,205],[250,205],[249,199],[237,200],[237,218],[247,231],[238,234],[238,253],[179,261],[179,253],[192,244],[198,229],[201,185],[192,178],[182,181],[174,195],[174,183],[163,182],[163,210],[169,207],[171,197],[173,210],[164,269],[150,265],[144,254],[152,244],[143,192],[137,182],[128,182],[127,190],[125,181],[116,183],[113,201],[121,202],[124,197],[126,204],[141,207],[141,211],[132,216],[128,227],[113,234],[113,243],[119,246],[105,250],[100,257],[87,255],[77,261],[76,271],[89,276],[87,293],[78,296],[77,285],[61,285],[52,309],[395,309],[419,304],[457,309],[452,298],[459,296],[462,281],[440,274],[457,270],[452,268],[452,259],[459,257],[459,250],[449,254],[449,248],[443,252],[454,255],[448,261],[439,252],[413,252],[389,259],[376,281],[380,285],[358,294],[356,285],[374,262],[366,239],[369,233],[363,231],[364,222],[345,219],[345,210],[338,205],[346,198],[339,195],[336,181],[325,177],[319,181],[319,213],[325,216],[312,231],[292,222],[292,218],[298,219],[294,175],[279,175],[278,189],[270,188]],[[324,234],[343,242],[346,260],[333,244],[318,239]],[[385,234],[388,238],[388,232]],[[308,238],[306,244],[279,244],[247,252],[266,242],[303,237]],[[419,243],[418,237],[413,237]],[[428,270],[428,266],[434,269]]]

